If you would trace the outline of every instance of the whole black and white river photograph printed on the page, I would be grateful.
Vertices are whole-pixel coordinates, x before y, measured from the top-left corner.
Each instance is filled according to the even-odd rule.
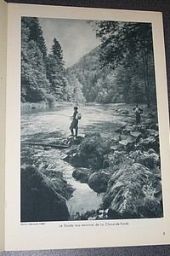
[[[163,217],[152,24],[22,16],[20,222]]]

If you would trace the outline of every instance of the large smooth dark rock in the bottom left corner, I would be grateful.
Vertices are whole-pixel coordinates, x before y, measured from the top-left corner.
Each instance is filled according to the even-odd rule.
[[[56,192],[53,183],[33,166],[21,169],[21,221],[68,220],[65,198]]]

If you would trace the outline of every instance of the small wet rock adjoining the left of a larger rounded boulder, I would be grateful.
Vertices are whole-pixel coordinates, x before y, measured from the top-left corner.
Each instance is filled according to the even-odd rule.
[[[72,172],[72,177],[79,180],[81,183],[88,183],[88,177],[92,174],[92,171],[87,168],[78,168]]]

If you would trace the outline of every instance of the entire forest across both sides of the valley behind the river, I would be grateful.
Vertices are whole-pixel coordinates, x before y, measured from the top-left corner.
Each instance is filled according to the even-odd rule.
[[[65,68],[57,35],[48,54],[39,20],[21,21],[21,102],[156,103],[149,23],[88,22],[101,44]]]

